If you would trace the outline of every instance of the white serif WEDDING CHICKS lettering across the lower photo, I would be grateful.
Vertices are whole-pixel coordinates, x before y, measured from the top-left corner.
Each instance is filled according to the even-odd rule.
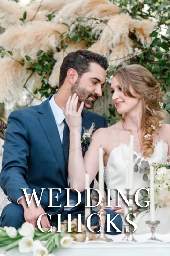
[[[28,197],[28,195],[27,195],[27,193],[26,193],[27,188],[21,188],[21,189],[22,189],[23,192],[24,192],[24,196],[25,196],[25,198],[26,198],[26,202],[27,202],[28,207],[30,207],[30,204],[31,204],[31,201],[32,201],[33,197],[34,197],[34,200],[35,200],[35,202],[36,202],[36,204],[37,204],[37,207],[38,207],[38,206],[40,205],[40,202],[41,202],[41,197],[43,196],[43,191],[46,190],[46,188],[41,188],[41,190],[42,190],[42,191],[41,191],[41,196],[40,196],[40,199],[38,199],[37,194],[36,194],[36,191],[35,191],[35,189],[33,189],[33,193],[32,193],[32,195],[31,195],[31,197],[30,197],[30,199],[29,199],[29,197]],[[61,208],[61,207],[62,207],[62,202],[60,203],[60,205],[57,205],[57,206],[54,206],[54,205],[53,205],[53,198],[56,198],[56,200],[58,201],[58,193],[56,194],[56,196],[53,196],[53,191],[54,191],[54,190],[57,190],[57,191],[59,191],[59,193],[61,194],[61,189],[60,189],[60,188],[48,188],[48,190],[49,190],[49,206],[48,206],[48,207],[60,207],[60,208]],[[74,208],[74,207],[77,207],[77,206],[81,203],[81,193],[80,193],[77,189],[65,188],[65,190],[66,190],[66,205],[64,205],[64,207],[70,207],[71,209]],[[75,205],[70,205],[70,190],[74,190],[74,191],[78,194],[78,201],[75,202]],[[99,198],[99,199],[98,199],[98,202],[97,202],[96,205],[91,205],[90,194],[91,194],[91,191],[92,191],[92,190],[95,190],[95,191],[97,191],[97,193],[98,193],[98,198]],[[106,206],[105,206],[106,209],[107,209],[107,207],[111,207],[111,190],[112,190],[111,188],[107,188],[107,201],[106,201]],[[140,188],[140,189],[138,189],[137,192],[135,193],[134,198],[132,198],[132,196],[130,196],[130,189],[129,189],[129,188],[127,188],[127,196],[123,194],[123,192],[122,192],[121,189],[115,188],[115,191],[117,192],[117,202],[116,202],[117,205],[116,205],[115,207],[120,207],[120,205],[119,205],[120,196],[121,196],[121,198],[122,198],[121,201],[124,201],[125,207],[127,207],[127,208],[129,208],[130,206],[132,206],[132,204],[133,204],[133,199],[134,199],[135,203],[137,204],[137,206],[143,207],[143,208],[144,208],[144,207],[148,207],[150,201],[145,201],[145,203],[146,203],[145,206],[139,204],[138,198],[139,198],[139,193],[140,193],[141,190],[146,190],[147,193],[148,193],[148,195],[149,195],[149,189]],[[86,196],[87,201],[85,202],[85,207],[96,207],[96,206],[99,206],[99,205],[100,205],[100,203],[101,203],[101,201],[102,201],[102,196],[101,196],[101,193],[100,193],[100,191],[99,191],[98,189],[95,189],[95,188],[87,188],[87,189],[85,189],[85,192],[86,192],[86,195],[87,195],[87,196]],[[52,232],[52,227],[51,227],[48,231],[42,230],[42,228],[41,228],[41,223],[40,223],[40,222],[41,222],[41,217],[42,217],[43,215],[48,215],[49,218],[50,218],[50,220],[51,220],[52,214],[43,213],[43,214],[41,214],[41,215],[39,216],[39,218],[38,218],[38,220],[37,220],[37,227],[38,227],[42,232],[44,232],[44,233]],[[57,229],[56,232],[61,232],[61,223],[64,223],[64,224],[65,224],[65,223],[68,223],[68,231],[67,231],[67,232],[71,232],[71,215],[72,215],[72,214],[71,214],[71,213],[67,213],[67,214],[66,214],[66,215],[68,216],[68,221],[61,221],[61,215],[62,215],[61,213],[56,213],[55,215],[57,215],[57,227],[58,227],[58,229]],[[82,215],[82,214],[77,213],[76,215],[77,215],[77,219],[78,219],[77,232],[83,232],[83,231],[81,230],[81,215]],[[85,223],[85,224],[87,225],[87,228],[89,229],[89,231],[91,231],[91,232],[93,232],[93,233],[97,233],[97,232],[101,231],[101,227],[100,227],[100,229],[99,229],[98,231],[94,231],[94,230],[91,229],[90,222],[91,222],[91,217],[92,217],[93,215],[97,215],[98,218],[100,218],[100,220],[101,220],[101,215],[100,215],[100,214],[98,214],[98,213],[93,213],[93,214],[90,214],[90,215],[88,216],[88,218],[86,219],[86,223]],[[115,220],[118,215],[121,215],[121,213],[117,213],[117,214],[115,215],[115,217],[114,217],[112,220],[110,220],[110,215],[111,215],[111,214],[106,214],[106,218],[107,218],[107,231],[106,231],[106,233],[107,233],[107,232],[110,232],[110,225],[112,225],[112,226],[115,228],[115,230],[116,230],[115,232],[122,232],[121,230],[119,230],[119,229],[116,227],[116,225],[115,225],[114,222],[113,222],[113,220]],[[137,225],[136,225],[135,222],[132,221],[133,218],[136,218],[136,213],[134,213],[134,214],[133,214],[133,213],[127,214],[127,216],[126,216],[126,221],[127,221],[127,223],[129,223],[131,226],[133,226],[133,230],[131,231],[131,230],[129,230],[129,229],[126,227],[126,232],[132,233],[132,232],[136,231]]]

